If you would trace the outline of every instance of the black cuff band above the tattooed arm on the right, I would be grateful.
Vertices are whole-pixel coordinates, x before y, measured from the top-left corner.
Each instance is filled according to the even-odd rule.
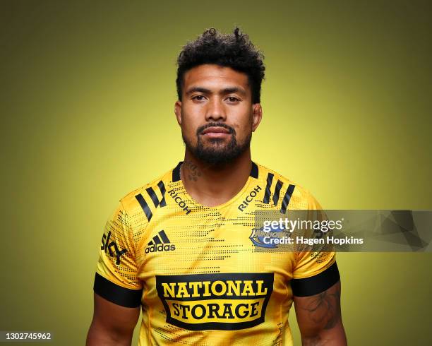
[[[317,275],[311,276],[311,278],[292,279],[292,294],[296,297],[313,296],[314,294],[328,290],[339,280],[339,270],[337,269],[337,264],[335,262],[326,270]]]

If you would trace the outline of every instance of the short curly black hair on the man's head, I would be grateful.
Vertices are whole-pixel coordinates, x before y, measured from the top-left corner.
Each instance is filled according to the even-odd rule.
[[[181,100],[184,73],[202,64],[217,64],[246,73],[251,85],[252,102],[260,103],[264,79],[264,55],[236,27],[232,34],[221,34],[215,28],[205,30],[195,41],[188,42],[177,59],[177,95]]]

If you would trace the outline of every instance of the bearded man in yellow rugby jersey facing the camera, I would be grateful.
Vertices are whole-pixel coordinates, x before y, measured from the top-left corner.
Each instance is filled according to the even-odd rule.
[[[184,162],[121,198],[102,237],[87,345],[346,345],[332,252],[257,251],[256,210],[320,208],[251,160],[263,55],[236,28],[206,30],[178,59]],[[263,250],[263,249],[261,249]]]

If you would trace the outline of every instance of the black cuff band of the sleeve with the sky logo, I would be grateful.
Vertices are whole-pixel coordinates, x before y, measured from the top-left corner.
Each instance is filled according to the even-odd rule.
[[[121,287],[98,273],[95,275],[93,291],[99,294],[100,297],[109,300],[109,302],[126,308],[140,306],[141,296],[143,295],[143,290],[131,290],[130,288]]]

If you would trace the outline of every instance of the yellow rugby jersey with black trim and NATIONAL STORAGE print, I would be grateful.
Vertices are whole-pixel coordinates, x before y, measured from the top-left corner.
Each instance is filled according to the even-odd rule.
[[[102,236],[95,293],[141,306],[140,346],[292,345],[293,294],[334,285],[335,253],[256,251],[254,210],[320,205],[252,162],[234,198],[206,207],[186,192],[181,163],[121,198]]]

